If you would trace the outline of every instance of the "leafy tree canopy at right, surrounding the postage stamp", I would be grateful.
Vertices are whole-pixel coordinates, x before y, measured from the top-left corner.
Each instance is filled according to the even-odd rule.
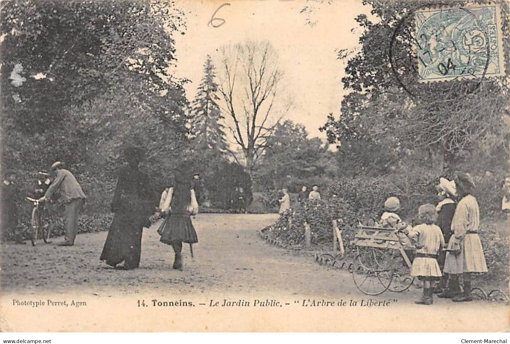
[[[380,145],[401,160],[422,150],[442,165],[454,164],[473,150],[498,141],[508,154],[507,80],[505,77],[457,78],[420,83],[414,50],[414,12],[426,1],[365,0],[373,19],[359,15],[364,29],[358,51],[339,51],[347,61],[341,115],[322,127],[330,143],[363,140]],[[460,1],[448,6],[465,6]],[[508,48],[508,5],[499,2],[503,42]],[[488,36],[487,36],[488,37]],[[508,56],[505,56],[508,70]],[[347,149],[344,148],[343,149]]]

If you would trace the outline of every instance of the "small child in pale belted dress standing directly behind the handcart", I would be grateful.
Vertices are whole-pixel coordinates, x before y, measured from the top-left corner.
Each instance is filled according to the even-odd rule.
[[[411,267],[411,275],[423,280],[423,294],[420,300],[415,301],[421,305],[433,303],[432,281],[441,277],[441,269],[438,264],[438,253],[445,246],[445,240],[441,229],[434,223],[437,220],[436,207],[432,204],[424,204],[418,208],[418,220],[421,224],[414,227],[409,234],[411,242],[416,246],[416,256]]]

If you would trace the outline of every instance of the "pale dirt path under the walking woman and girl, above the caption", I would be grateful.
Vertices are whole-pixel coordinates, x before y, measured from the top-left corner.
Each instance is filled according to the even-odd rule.
[[[74,246],[38,243],[36,247],[2,245],[4,294],[69,292],[92,294],[139,293],[172,290],[179,294],[228,292],[283,293],[311,296],[360,296],[347,271],[319,266],[313,252],[286,250],[266,244],[258,230],[273,223],[276,215],[199,214],[194,219],[199,243],[183,247],[184,270],[171,269],[173,251],[159,242],[158,224],[144,229],[140,268],[123,271],[99,261],[107,232],[80,234]],[[394,294],[412,302],[420,289]],[[387,295],[385,295],[387,297]],[[439,302],[449,302],[440,300]]]

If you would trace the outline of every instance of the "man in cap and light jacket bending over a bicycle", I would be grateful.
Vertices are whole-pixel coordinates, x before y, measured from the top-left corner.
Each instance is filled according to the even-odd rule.
[[[65,224],[65,239],[59,243],[60,246],[74,245],[74,238],[78,233],[78,216],[80,209],[85,203],[85,193],[83,192],[80,184],[74,178],[71,172],[63,168],[64,163],[56,162],[52,165],[51,173],[54,176],[53,183],[49,186],[48,190],[40,200],[46,200],[53,196],[55,191],[60,188],[62,201],[65,204],[64,209],[64,224]]]

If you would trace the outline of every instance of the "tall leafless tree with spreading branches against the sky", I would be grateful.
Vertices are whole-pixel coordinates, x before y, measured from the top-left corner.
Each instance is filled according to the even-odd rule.
[[[269,42],[252,42],[221,49],[223,112],[229,120],[227,130],[243,153],[247,172],[266,149],[276,124],[289,110],[277,107],[275,100],[283,72],[278,68],[276,52]],[[241,164],[236,149],[227,148]]]

